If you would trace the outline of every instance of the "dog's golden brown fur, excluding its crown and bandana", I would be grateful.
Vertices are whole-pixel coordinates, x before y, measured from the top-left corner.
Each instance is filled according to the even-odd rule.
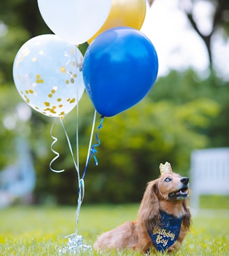
[[[171,180],[165,181],[165,178]],[[182,227],[178,239],[175,244],[168,248],[168,252],[179,250],[191,224],[191,213],[186,205],[188,190],[184,192],[186,197],[181,192],[184,182],[186,187],[189,187],[189,179],[181,177],[177,173],[162,174],[160,178],[149,182],[140,204],[138,220],[126,222],[109,232],[101,234],[94,244],[94,248],[96,250],[132,248],[142,253],[147,253],[149,250],[156,251],[148,230],[152,231],[155,226],[160,225],[161,215],[159,210],[161,210],[174,215],[176,218],[182,217]],[[169,198],[168,195],[170,193],[177,191],[182,193],[181,197],[176,199]]]

